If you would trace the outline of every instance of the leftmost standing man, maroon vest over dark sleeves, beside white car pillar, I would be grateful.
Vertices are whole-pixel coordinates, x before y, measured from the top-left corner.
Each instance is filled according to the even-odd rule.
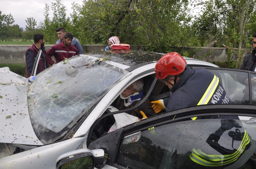
[[[36,70],[36,75],[40,72],[42,72],[44,69],[49,67],[49,57],[45,51],[45,38],[43,34],[37,33],[34,35],[34,43],[32,46],[30,46],[25,55],[26,55],[26,73],[27,73],[27,78],[30,77],[36,55],[41,48],[42,53],[38,62],[37,70]]]

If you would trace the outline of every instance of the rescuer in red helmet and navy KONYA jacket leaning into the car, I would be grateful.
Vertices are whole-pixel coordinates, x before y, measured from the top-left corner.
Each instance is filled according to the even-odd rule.
[[[171,92],[169,98],[151,102],[155,113],[163,109],[170,111],[195,105],[231,103],[217,76],[204,68],[192,70],[176,52],[163,55],[156,63],[155,73]]]

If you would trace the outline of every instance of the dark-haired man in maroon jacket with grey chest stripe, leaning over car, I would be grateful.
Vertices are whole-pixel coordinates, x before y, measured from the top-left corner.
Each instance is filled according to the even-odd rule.
[[[61,44],[57,44],[51,47],[47,51],[47,54],[49,57],[49,62],[51,65],[54,64],[54,61],[51,59],[51,56],[54,56],[56,59],[56,62],[61,62],[64,60],[64,58],[71,58],[74,55],[78,55],[78,50],[76,47],[71,45],[73,35],[70,32],[67,32],[64,35],[63,41]]]

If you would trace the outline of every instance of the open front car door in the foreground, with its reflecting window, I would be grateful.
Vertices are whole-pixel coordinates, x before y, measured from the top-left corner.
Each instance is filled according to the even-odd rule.
[[[203,105],[153,116],[88,145],[103,168],[239,168],[255,165],[255,105]],[[223,119],[211,119],[214,115]],[[236,116],[253,117],[234,120]],[[203,116],[200,120],[191,117]]]

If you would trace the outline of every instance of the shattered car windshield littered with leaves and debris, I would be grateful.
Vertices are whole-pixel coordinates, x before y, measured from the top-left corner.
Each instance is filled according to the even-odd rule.
[[[97,103],[127,71],[99,58],[77,55],[68,60],[78,70],[65,73],[60,62],[37,75],[28,89],[28,110],[40,141],[51,143],[63,135]]]

